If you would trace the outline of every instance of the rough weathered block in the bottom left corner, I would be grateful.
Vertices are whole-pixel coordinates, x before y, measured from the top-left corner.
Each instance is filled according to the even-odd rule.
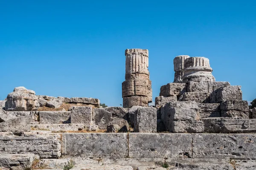
[[[33,160],[37,157],[35,154],[0,154],[0,167],[12,170],[26,169],[32,165]]]

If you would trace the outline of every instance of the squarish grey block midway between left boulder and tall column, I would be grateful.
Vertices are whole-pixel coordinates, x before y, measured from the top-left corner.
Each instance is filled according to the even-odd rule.
[[[88,106],[73,106],[70,108],[71,123],[84,123],[85,125],[90,125],[93,121],[93,108]]]

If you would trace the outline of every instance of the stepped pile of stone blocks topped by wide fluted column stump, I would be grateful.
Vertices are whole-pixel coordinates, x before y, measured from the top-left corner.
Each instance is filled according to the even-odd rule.
[[[174,61],[180,58],[176,57]],[[215,82],[209,59],[205,57],[187,57],[184,59],[183,68],[182,80],[179,83],[163,85],[160,96],[155,100],[158,109],[157,122],[162,122],[166,131],[202,133],[206,129],[209,132],[209,129],[223,129],[220,122],[225,119],[245,119],[250,126],[244,127],[244,131],[254,130],[254,122],[247,120],[249,108],[247,101],[242,100],[241,86],[232,86],[229,82]],[[217,117],[224,119],[212,121]],[[235,129],[237,130],[234,132],[239,131],[239,126]]]

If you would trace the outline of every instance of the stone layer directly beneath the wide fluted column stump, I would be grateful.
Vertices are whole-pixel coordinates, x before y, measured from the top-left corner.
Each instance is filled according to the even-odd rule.
[[[229,82],[189,82],[187,92],[207,92],[212,93],[221,87],[229,86]]]

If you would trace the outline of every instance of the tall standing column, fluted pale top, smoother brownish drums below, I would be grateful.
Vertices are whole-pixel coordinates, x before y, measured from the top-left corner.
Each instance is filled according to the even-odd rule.
[[[125,81],[122,83],[123,107],[148,106],[152,88],[148,71],[148,50],[125,50]]]

